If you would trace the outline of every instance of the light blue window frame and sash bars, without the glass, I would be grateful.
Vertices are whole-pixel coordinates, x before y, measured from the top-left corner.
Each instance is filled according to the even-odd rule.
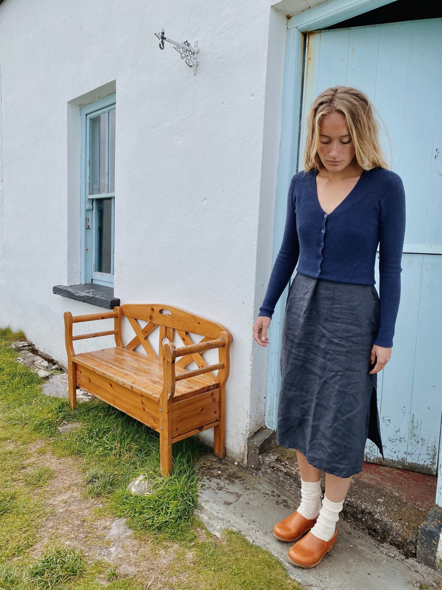
[[[80,181],[81,181],[81,283],[96,283],[112,287],[114,284],[114,201],[115,193],[108,190],[109,171],[109,113],[116,108],[116,93],[109,94],[92,103],[80,107],[81,122],[81,151],[80,151]],[[105,134],[105,192],[97,195],[89,195],[90,178],[90,119],[106,114]],[[97,255],[97,202],[98,199],[111,199],[112,201],[112,235],[111,235],[111,272],[100,273],[95,270]]]

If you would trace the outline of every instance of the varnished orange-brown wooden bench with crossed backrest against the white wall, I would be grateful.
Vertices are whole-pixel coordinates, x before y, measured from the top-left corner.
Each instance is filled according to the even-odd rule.
[[[72,325],[114,318],[114,329],[72,335]],[[135,336],[123,343],[123,318]],[[144,323],[141,326],[140,322]],[[214,428],[213,453],[225,455],[225,388],[229,376],[232,335],[221,324],[182,309],[158,304],[123,305],[113,312],[73,317],[64,314],[68,355],[69,403],[77,407],[81,387],[160,433],[163,476],[172,470],[172,442]],[[148,336],[159,326],[158,354]],[[175,333],[184,346],[174,345]],[[203,336],[194,343],[190,334]],[[75,354],[72,342],[114,335],[116,347]],[[143,348],[144,353],[136,352]],[[208,365],[203,353],[218,349]],[[190,370],[190,363],[197,368]],[[217,371],[216,376],[213,372]]]

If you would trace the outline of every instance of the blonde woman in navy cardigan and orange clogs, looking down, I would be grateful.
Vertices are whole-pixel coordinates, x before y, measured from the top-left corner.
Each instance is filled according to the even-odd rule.
[[[266,346],[275,304],[298,263],[282,328],[277,441],[296,449],[301,504],[273,533],[299,539],[288,555],[304,568],[335,543],[367,438],[384,457],[376,385],[399,306],[405,195],[382,155],[373,111],[364,93],[345,86],[312,104],[304,171],[290,183],[281,250],[253,324],[256,342]]]

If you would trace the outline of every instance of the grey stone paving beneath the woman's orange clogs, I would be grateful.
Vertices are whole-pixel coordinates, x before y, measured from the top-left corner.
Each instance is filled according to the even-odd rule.
[[[199,465],[201,489],[197,514],[207,529],[217,536],[223,529],[238,531],[275,555],[291,578],[309,590],[411,590],[424,582],[423,576],[404,562],[349,535],[339,524],[338,540],[319,565],[312,569],[296,568],[287,559],[291,544],[276,540],[272,529],[276,522],[294,512],[298,504],[229,461],[205,455]]]

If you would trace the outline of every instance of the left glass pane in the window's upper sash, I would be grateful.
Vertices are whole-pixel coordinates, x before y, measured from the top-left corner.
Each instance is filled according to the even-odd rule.
[[[89,194],[106,192],[106,113],[90,119]]]

